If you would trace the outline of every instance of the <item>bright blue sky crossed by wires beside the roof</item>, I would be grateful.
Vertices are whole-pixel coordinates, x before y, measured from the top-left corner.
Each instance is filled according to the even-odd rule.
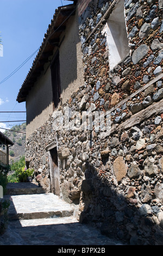
[[[4,132],[1,127],[10,129],[12,125],[21,124],[2,121],[26,120],[26,113],[1,112],[26,111],[26,103],[18,103],[16,97],[37,53],[8,80],[1,82],[41,46],[55,9],[72,3],[65,0],[0,0],[3,44],[3,57],[0,57],[0,131]]]

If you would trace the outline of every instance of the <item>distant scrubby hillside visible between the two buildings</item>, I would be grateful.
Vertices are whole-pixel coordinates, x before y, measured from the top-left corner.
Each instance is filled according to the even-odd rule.
[[[10,131],[5,131],[4,134],[14,142],[14,145],[9,148],[9,163],[12,160],[20,159],[24,155],[25,142],[26,142],[26,123],[21,125],[12,126]]]

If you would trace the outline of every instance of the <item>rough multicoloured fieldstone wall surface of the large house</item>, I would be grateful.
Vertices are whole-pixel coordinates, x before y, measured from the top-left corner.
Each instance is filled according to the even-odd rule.
[[[55,142],[60,196],[78,205],[81,222],[131,245],[161,245],[163,2],[124,1],[130,52],[110,70],[103,29],[116,4],[91,1],[79,17],[85,83],[29,136],[27,163],[50,191],[47,146]],[[104,120],[82,129],[86,111],[109,111],[103,136]],[[68,119],[62,122],[61,114]]]

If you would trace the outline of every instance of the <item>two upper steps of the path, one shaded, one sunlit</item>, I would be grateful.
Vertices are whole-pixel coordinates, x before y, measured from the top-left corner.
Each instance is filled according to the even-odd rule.
[[[73,216],[74,208],[33,182],[9,183],[4,199],[10,199],[9,220],[34,220]]]

